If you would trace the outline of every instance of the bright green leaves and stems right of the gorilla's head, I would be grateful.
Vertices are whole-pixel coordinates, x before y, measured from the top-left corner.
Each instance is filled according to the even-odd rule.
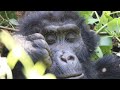
[[[112,54],[113,38],[118,41],[118,45],[120,44],[120,11],[102,11],[101,15],[97,11],[80,11],[80,15],[85,17],[86,23],[92,25],[94,31],[100,35],[99,47],[92,58],[96,60]]]

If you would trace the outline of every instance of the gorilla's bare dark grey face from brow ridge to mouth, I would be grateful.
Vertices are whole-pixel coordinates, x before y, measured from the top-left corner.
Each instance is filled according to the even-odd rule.
[[[52,66],[48,70],[57,78],[71,78],[83,76],[83,59],[77,57],[77,53],[86,50],[80,29],[77,25],[66,23],[51,25],[43,34],[52,53]],[[46,30],[46,29],[45,29]]]

